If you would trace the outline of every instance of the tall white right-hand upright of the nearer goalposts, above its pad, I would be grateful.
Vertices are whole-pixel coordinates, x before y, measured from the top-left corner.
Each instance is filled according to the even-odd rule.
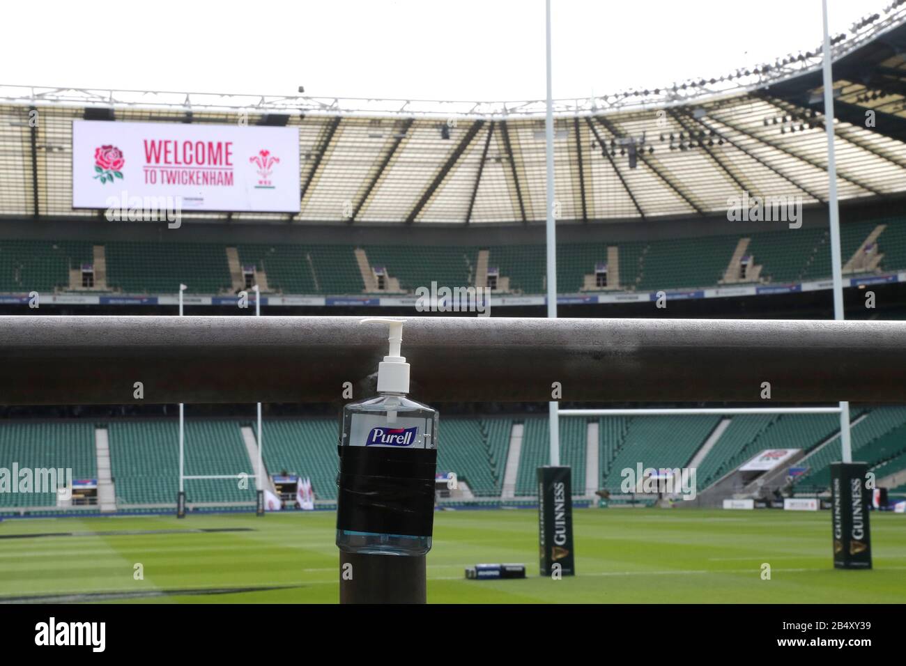
[[[831,72],[831,36],[827,31],[827,0],[821,0],[824,24],[824,129],[827,131],[827,208],[831,224],[831,268],[834,275],[834,319],[846,318],[843,312],[843,265],[840,256],[840,208],[837,206],[837,164],[834,153],[834,77]],[[853,461],[850,438],[849,402],[840,403],[840,443],[843,462]]]

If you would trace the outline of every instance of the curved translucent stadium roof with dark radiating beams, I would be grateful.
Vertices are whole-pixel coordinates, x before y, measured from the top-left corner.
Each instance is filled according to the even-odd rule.
[[[841,198],[906,190],[906,3],[834,38]],[[701,216],[751,196],[827,198],[821,50],[716,79],[558,101],[559,218]],[[36,126],[30,112],[39,110]],[[866,112],[873,112],[873,126]],[[545,218],[544,103],[304,97],[0,86],[0,217],[97,217],[72,208],[72,121],[299,128],[302,212],[193,213],[338,224]],[[866,126],[868,125],[868,126]],[[631,163],[633,162],[633,163]],[[352,217],[349,216],[352,211]]]

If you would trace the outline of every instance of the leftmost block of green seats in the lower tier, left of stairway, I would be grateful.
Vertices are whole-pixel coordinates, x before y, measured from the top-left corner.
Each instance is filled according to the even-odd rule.
[[[71,468],[72,478],[96,478],[94,425],[87,422],[42,421],[0,424],[0,466],[10,470]],[[12,482],[18,479],[11,478]],[[60,479],[59,484],[70,480]],[[0,492],[0,507],[56,507],[52,492]]]

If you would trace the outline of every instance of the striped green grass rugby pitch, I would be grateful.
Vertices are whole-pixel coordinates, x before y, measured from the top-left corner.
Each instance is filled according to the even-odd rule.
[[[0,602],[336,603],[335,519],[5,520]],[[538,576],[537,520],[531,510],[438,513],[429,602],[906,602],[906,516],[872,514],[872,571],[835,571],[826,511],[577,509],[577,575],[558,581]],[[480,562],[522,562],[529,577],[465,580]]]

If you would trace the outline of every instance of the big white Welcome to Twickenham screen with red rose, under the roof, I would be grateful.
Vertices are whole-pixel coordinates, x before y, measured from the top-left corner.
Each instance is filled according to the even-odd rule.
[[[161,197],[182,211],[298,213],[299,130],[72,121],[72,208]]]

